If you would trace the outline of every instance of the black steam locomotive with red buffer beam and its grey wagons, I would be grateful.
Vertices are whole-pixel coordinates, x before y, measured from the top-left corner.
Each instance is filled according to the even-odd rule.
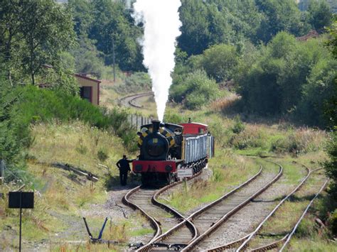
[[[205,124],[168,124],[154,120],[141,126],[140,155],[132,170],[141,174],[143,185],[175,182],[178,172],[195,174],[214,155],[214,138]]]

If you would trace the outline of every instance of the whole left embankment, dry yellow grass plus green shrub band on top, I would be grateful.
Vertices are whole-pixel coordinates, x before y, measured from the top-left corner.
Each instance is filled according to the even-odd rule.
[[[104,203],[114,193],[124,194],[116,187],[114,163],[123,153],[134,157],[129,150],[133,149],[135,134],[123,123],[125,111],[100,111],[78,98],[35,87],[19,92],[22,102],[16,108],[22,111],[18,116],[30,140],[22,153],[26,168],[19,169],[18,174],[25,178],[25,190],[36,190],[35,208],[23,211],[23,248],[33,249],[37,243],[43,243],[43,248],[50,244],[52,248],[55,242],[86,240],[82,213],[88,217],[92,233],[98,234],[102,221],[110,215]],[[92,184],[73,172],[55,168],[55,163],[92,172],[100,180]],[[18,212],[7,207],[6,193],[18,189],[23,182],[1,185],[0,249],[17,248]],[[128,219],[119,215],[112,212],[112,231],[105,232],[106,239],[127,242],[131,236],[151,232],[141,227],[144,221],[137,214]]]

